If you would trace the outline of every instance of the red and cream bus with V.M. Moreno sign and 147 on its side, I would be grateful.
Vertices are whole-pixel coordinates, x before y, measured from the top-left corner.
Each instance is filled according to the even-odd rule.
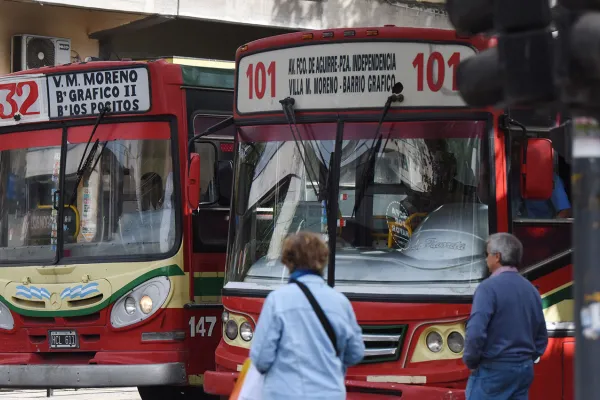
[[[0,77],[0,387],[197,398],[220,340],[233,62],[89,62]],[[108,108],[106,108],[108,107]]]

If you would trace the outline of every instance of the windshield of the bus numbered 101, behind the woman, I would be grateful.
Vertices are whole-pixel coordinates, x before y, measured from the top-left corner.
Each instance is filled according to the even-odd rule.
[[[240,128],[235,240],[227,288],[287,282],[286,235],[335,239],[335,286],[344,292],[472,294],[487,276],[489,174],[484,121],[344,123]],[[299,137],[298,137],[299,136]],[[339,188],[337,230],[324,200]]]

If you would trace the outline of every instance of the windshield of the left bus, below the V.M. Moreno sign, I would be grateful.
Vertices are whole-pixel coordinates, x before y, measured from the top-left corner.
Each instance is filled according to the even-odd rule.
[[[168,123],[102,124],[85,152],[91,131],[85,125],[68,128],[64,137],[62,129],[0,135],[0,263],[173,249]],[[94,154],[78,180],[84,153]]]

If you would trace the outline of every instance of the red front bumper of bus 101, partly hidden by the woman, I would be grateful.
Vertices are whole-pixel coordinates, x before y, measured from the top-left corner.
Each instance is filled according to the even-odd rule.
[[[206,371],[204,391],[210,394],[227,396],[231,394],[237,372]],[[346,380],[347,399],[399,399],[402,400],[464,400],[462,389],[440,388],[394,383],[377,383]]]

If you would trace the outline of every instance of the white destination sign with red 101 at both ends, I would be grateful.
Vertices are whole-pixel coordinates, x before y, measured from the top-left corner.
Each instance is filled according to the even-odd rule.
[[[468,45],[380,41],[251,54],[239,61],[237,111],[278,112],[288,96],[298,110],[383,108],[396,83],[404,101],[393,107],[465,107],[456,69],[473,55]]]

